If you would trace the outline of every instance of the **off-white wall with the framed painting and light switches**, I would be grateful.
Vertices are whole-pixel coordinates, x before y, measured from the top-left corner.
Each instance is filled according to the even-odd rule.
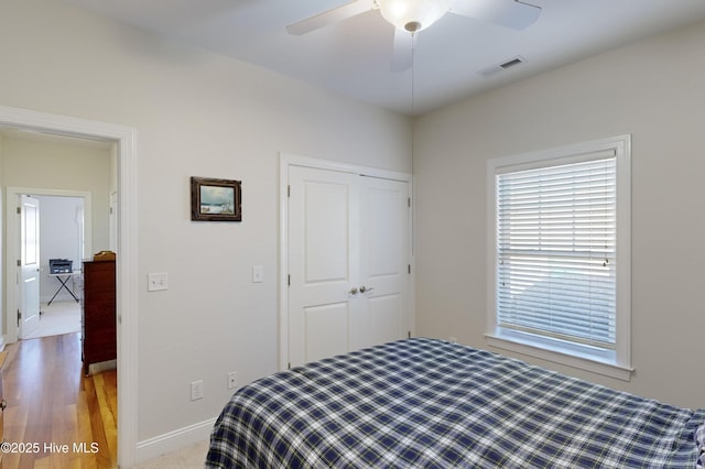
[[[228,371],[278,369],[279,152],[411,171],[404,117],[70,2],[0,0],[0,47],[1,105],[137,129],[142,441],[215,417]],[[241,179],[243,221],[192,222],[189,176]],[[148,293],[148,272],[169,290]]]

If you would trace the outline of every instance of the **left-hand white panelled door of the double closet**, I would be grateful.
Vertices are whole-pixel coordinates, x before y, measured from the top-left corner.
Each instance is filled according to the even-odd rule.
[[[291,166],[289,172],[290,363],[350,349],[351,293],[359,277],[358,176]]]

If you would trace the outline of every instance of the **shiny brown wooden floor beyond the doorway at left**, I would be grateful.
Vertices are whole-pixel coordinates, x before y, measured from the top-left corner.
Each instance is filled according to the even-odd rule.
[[[6,350],[4,441],[25,452],[4,452],[2,467],[116,468],[116,371],[84,377],[78,334],[20,340]]]

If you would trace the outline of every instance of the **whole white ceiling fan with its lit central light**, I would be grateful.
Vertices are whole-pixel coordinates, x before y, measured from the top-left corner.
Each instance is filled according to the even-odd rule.
[[[445,13],[487,21],[514,30],[532,24],[541,8],[519,0],[352,0],[340,7],[286,26],[290,34],[301,35],[358,14],[379,10],[394,26],[393,72],[412,65],[413,35],[438,21]]]

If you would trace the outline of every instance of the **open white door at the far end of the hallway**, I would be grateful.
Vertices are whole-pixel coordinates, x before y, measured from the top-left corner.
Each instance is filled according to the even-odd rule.
[[[20,196],[20,295],[18,327],[24,339],[40,325],[40,201]]]

